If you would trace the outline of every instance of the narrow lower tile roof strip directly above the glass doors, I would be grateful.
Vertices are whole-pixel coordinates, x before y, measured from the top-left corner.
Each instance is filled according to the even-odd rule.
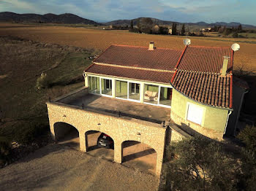
[[[171,71],[154,71],[143,69],[130,69],[116,66],[105,66],[93,64],[86,70],[86,73],[102,74],[112,77],[122,77],[129,79],[138,79],[148,82],[160,82],[170,84],[170,79],[173,76]]]

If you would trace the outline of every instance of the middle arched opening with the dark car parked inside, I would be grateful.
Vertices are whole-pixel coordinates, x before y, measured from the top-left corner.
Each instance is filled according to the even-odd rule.
[[[90,155],[114,160],[114,147],[115,142],[107,133],[86,131],[86,150]]]

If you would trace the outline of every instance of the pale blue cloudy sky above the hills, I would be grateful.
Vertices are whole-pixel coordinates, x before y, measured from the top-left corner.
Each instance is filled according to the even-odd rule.
[[[256,26],[256,0],[0,0],[0,12],[72,13],[98,22],[155,17],[177,22]]]

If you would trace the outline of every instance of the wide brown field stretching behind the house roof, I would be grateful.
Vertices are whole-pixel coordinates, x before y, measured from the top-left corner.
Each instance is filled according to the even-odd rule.
[[[72,28],[64,26],[23,26],[0,23],[0,36],[19,36],[37,42],[56,43],[75,47],[105,50],[110,44],[148,46],[154,41],[157,47],[182,50],[184,36],[160,36],[135,34],[128,31],[105,31],[93,28]],[[219,37],[192,37],[192,45],[210,47],[230,47],[234,42],[241,45],[236,52],[234,69],[243,67],[246,71],[256,71],[256,39],[231,39]]]

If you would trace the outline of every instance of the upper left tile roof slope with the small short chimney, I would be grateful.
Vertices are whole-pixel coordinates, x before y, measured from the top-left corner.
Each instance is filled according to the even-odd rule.
[[[146,69],[174,70],[182,50],[111,45],[94,63],[111,63]]]

